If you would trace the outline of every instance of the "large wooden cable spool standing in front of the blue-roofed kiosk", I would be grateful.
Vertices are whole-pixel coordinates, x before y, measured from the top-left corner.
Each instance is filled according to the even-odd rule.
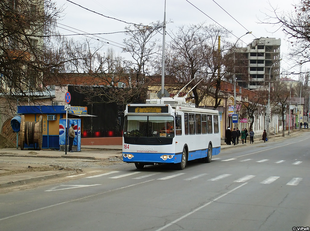
[[[25,121],[25,116],[21,116],[20,120],[20,149],[24,150],[24,144],[28,146],[33,144],[35,150],[42,149],[42,116],[38,122]]]

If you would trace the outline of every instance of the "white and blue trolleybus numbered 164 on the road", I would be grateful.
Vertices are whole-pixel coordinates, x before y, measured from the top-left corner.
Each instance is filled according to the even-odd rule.
[[[187,161],[210,163],[221,150],[219,112],[196,108],[184,98],[163,97],[146,104],[127,104],[123,129],[123,161],[145,165]]]

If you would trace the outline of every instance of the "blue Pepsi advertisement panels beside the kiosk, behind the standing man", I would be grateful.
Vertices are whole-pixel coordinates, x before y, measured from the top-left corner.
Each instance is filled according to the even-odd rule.
[[[73,151],[81,151],[81,119],[68,119],[68,130],[67,130],[67,146],[69,146],[69,127],[74,124],[73,130],[75,137],[73,140]],[[59,145],[66,145],[66,119],[59,120]]]

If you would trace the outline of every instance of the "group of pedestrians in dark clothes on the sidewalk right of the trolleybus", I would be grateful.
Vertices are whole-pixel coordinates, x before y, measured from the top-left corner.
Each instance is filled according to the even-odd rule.
[[[227,145],[236,145],[239,144],[239,137],[241,137],[242,144],[246,144],[246,138],[250,136],[250,144],[254,144],[254,131],[251,129],[250,133],[248,133],[248,130],[246,128],[242,128],[242,131],[239,130],[239,128],[234,128],[231,130],[230,127],[228,127],[225,131],[225,143]],[[266,142],[267,133],[266,130],[263,132],[263,140]]]

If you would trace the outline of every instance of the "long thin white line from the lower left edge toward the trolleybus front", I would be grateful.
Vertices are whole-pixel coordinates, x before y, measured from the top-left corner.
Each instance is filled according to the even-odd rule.
[[[126,189],[126,188],[129,188],[129,187],[136,186],[136,185],[139,185],[139,184],[144,184],[144,183],[147,183],[147,182],[150,182],[150,181],[153,181],[153,180],[147,180],[147,181],[140,182],[140,183],[137,183],[137,184],[131,184],[131,185],[128,185],[128,186],[117,188],[117,189],[108,190],[108,191],[105,191],[105,192],[102,192],[102,193],[96,193],[96,194],[92,194],[92,195],[89,195],[89,196],[86,196],[86,197],[81,197],[81,198],[78,198],[78,199],[64,201],[64,202],[60,202],[60,203],[57,203],[57,204],[49,205],[49,206],[46,206],[46,207],[30,210],[30,211],[27,211],[27,212],[22,212],[22,213],[18,213],[18,214],[15,214],[15,215],[3,217],[3,218],[0,218],[0,221],[6,220],[6,219],[9,219],[9,218],[13,218],[13,217],[17,217],[17,216],[21,216],[21,215],[28,214],[28,213],[40,211],[40,210],[43,210],[43,209],[48,209],[48,208],[55,207],[55,206],[58,206],[58,205],[63,205],[63,204],[70,203],[70,202],[76,202],[76,201],[85,200],[87,198],[96,197],[96,196],[99,196],[99,195],[103,195],[105,193],[111,193],[111,192],[114,192],[114,191],[118,191],[120,189]],[[241,187],[241,186],[239,186],[239,187]]]

